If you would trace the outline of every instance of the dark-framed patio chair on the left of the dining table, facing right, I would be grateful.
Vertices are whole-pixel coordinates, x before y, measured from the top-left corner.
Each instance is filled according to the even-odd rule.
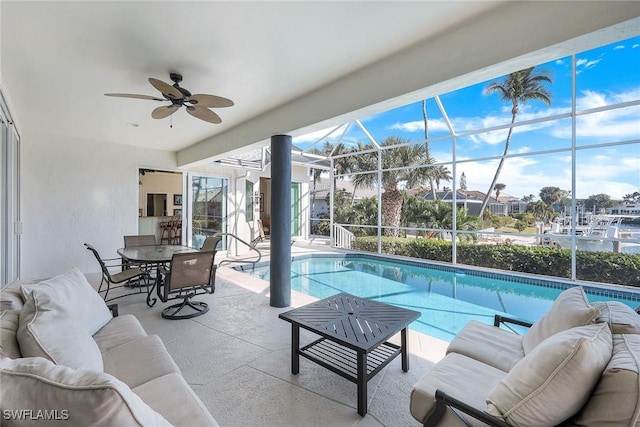
[[[102,272],[102,280],[98,287],[98,294],[102,296],[105,302],[109,302],[118,298],[126,297],[134,293],[149,292],[149,273],[139,267],[131,267],[122,270],[123,265],[120,263],[120,258],[102,258],[98,251],[88,243],[84,244],[86,248],[93,253],[100,264],[100,270]],[[118,263],[116,263],[118,261]],[[109,269],[119,269],[118,273],[111,273]],[[124,286],[130,287],[132,282],[137,283],[137,290],[135,292],[128,292],[125,294],[118,294],[115,297],[109,298],[109,292],[116,288]],[[105,287],[103,290],[102,287]]]

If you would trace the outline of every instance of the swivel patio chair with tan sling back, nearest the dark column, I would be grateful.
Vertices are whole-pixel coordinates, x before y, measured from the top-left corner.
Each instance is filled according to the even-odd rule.
[[[190,319],[209,311],[205,302],[192,301],[196,295],[212,294],[216,289],[216,251],[175,253],[169,269],[161,268],[156,292],[162,302],[182,299],[162,310],[165,319]],[[184,312],[182,310],[185,310]]]

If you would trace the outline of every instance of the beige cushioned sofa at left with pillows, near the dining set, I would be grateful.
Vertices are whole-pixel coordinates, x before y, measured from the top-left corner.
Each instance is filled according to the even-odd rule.
[[[2,425],[216,426],[157,335],[77,269],[2,289]]]

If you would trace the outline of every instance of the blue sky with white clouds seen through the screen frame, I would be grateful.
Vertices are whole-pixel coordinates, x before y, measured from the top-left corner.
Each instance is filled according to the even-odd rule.
[[[531,102],[520,106],[518,122],[549,117],[571,111],[571,57],[558,58],[536,67],[553,82],[547,85],[552,94],[551,105]],[[501,79],[497,79],[498,81]],[[494,80],[492,80],[494,81]],[[511,120],[511,104],[496,94],[484,95],[487,83],[440,95],[440,100],[456,133],[507,124]],[[577,111],[640,100],[640,37],[603,46],[576,55]],[[449,135],[442,115],[433,99],[427,101],[429,137]],[[412,141],[424,139],[421,103],[406,105],[370,117],[361,122],[378,141],[395,135]],[[640,190],[640,105],[607,112],[579,116],[576,121],[578,147],[621,141],[633,144],[615,147],[578,150],[576,162],[576,195],[586,198],[605,193],[614,199]],[[514,130],[510,154],[571,147],[570,118],[522,126]],[[295,138],[304,146],[315,141],[328,130]],[[332,135],[335,140],[343,129]],[[502,154],[507,130],[458,137],[456,157],[465,161],[457,165],[456,175],[462,172],[467,187],[486,192],[495,173],[498,160],[466,161]],[[335,138],[334,138],[335,136]],[[345,134],[346,144],[357,140],[368,142],[365,135],[352,126]],[[430,145],[432,155],[439,162],[452,159],[451,140],[435,141]],[[448,165],[452,170],[451,165]],[[505,161],[498,182],[506,185],[505,193],[522,197],[538,196],[540,188],[556,186],[571,190],[571,152],[532,154]],[[452,183],[443,183],[451,187]]]

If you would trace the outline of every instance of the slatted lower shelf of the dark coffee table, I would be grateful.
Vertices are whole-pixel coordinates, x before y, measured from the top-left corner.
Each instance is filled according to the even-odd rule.
[[[382,368],[400,355],[400,346],[383,342],[366,355],[367,372],[363,378],[365,384]],[[300,356],[320,366],[358,383],[358,352],[326,338],[320,338],[298,350]]]

